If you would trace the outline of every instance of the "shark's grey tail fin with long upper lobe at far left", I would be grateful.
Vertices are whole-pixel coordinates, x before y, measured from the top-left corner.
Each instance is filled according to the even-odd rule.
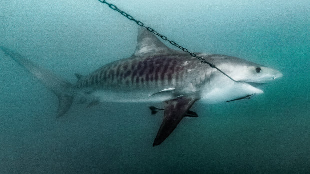
[[[73,103],[74,92],[72,84],[61,77],[58,77],[48,70],[39,67],[35,63],[23,58],[20,54],[0,46],[5,54],[14,59],[21,67],[30,72],[36,79],[38,79],[44,86],[50,89],[58,96],[59,106],[57,117],[64,115]]]

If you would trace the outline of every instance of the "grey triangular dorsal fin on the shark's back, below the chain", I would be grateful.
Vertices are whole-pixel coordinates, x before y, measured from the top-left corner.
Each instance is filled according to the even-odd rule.
[[[169,52],[172,49],[163,44],[153,33],[144,27],[138,30],[137,44],[134,51],[135,56],[143,56],[156,52]]]

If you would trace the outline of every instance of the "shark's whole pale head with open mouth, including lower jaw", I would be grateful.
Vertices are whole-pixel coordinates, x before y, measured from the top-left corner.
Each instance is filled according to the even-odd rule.
[[[214,63],[224,73],[236,81],[234,82],[217,70],[211,73],[211,81],[203,93],[206,102],[234,101],[250,98],[263,91],[256,88],[260,84],[274,81],[282,77],[279,71],[262,66],[244,59],[225,55],[207,55],[206,60]]]

